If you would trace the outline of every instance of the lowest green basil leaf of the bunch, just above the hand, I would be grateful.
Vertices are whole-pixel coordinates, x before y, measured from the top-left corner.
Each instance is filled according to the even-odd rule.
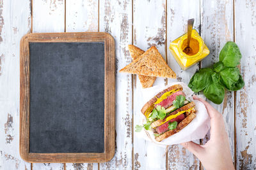
[[[225,89],[220,83],[212,82],[204,89],[204,95],[213,103],[221,104],[225,96]]]

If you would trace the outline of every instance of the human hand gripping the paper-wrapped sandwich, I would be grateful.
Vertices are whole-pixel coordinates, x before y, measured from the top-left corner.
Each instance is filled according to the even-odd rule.
[[[193,96],[193,98],[204,103],[211,118],[211,139],[205,145],[198,145],[193,141],[181,143],[181,145],[198,157],[207,170],[234,169],[228,134],[225,131],[225,124],[221,113],[204,99],[196,96]]]

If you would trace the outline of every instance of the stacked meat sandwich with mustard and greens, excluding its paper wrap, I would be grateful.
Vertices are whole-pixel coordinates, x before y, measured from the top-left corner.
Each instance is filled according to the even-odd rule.
[[[182,130],[196,117],[195,103],[186,99],[181,85],[159,92],[143,106],[141,113],[147,119],[143,127],[151,129],[159,142]]]

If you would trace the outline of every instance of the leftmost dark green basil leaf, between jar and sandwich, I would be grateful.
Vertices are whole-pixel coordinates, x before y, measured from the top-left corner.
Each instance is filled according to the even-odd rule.
[[[203,68],[196,72],[190,79],[188,87],[193,90],[193,92],[199,92],[204,90],[207,85],[212,81],[211,74],[213,73],[211,68]]]

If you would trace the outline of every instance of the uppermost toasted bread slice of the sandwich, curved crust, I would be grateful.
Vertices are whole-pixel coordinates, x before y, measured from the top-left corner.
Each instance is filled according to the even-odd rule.
[[[156,96],[154,96],[150,101],[148,101],[146,104],[144,104],[143,108],[141,109],[141,113],[145,115],[145,112],[150,108],[156,101],[157,98],[160,98],[165,92],[169,92],[171,90],[182,90],[181,85],[173,85],[168,87],[167,89],[164,89],[163,91],[159,92]],[[154,107],[153,107],[154,108]],[[152,110],[153,110],[152,108]]]

